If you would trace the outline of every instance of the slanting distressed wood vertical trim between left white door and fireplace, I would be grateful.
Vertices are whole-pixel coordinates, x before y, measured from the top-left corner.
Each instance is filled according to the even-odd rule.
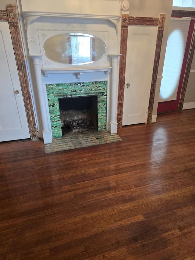
[[[6,12],[8,17],[9,29],[12,37],[12,44],[13,44],[14,54],[16,58],[16,65],[18,69],[21,90],[23,94],[30,138],[32,140],[35,140],[38,139],[38,135],[37,135],[37,128],[35,125],[35,117],[34,117],[33,105],[32,105],[32,100],[30,95],[27,69],[26,69],[25,59],[23,55],[22,40],[20,36],[18,13],[17,13],[16,5],[6,5]]]

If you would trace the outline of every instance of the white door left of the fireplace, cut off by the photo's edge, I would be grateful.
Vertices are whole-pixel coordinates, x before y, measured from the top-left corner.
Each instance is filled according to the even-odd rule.
[[[30,138],[9,24],[0,22],[0,141]],[[15,91],[19,91],[18,95]]]

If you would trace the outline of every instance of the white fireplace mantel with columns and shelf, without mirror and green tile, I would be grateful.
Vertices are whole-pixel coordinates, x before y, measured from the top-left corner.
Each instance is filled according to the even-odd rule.
[[[106,129],[117,133],[118,68],[121,9],[114,0],[20,0],[26,27],[28,56],[37,111],[39,134],[44,143],[52,142],[46,84],[107,81]],[[58,34],[80,32],[98,37],[105,43],[105,56],[94,63],[72,65],[55,62],[44,53],[44,43]],[[114,53],[112,55],[112,53]],[[76,78],[76,79],[75,79]],[[35,94],[36,93],[36,94]]]

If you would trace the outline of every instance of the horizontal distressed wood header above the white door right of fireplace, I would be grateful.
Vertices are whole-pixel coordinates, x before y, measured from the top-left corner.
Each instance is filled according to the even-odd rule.
[[[134,17],[129,16],[128,25],[145,25],[145,26],[158,26],[159,18],[157,17]]]

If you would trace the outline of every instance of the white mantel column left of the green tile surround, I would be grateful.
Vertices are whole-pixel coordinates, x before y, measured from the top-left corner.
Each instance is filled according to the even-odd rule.
[[[42,55],[29,55],[30,58],[33,60],[34,66],[34,76],[36,79],[36,87],[37,87],[37,94],[38,94],[38,101],[39,101],[39,108],[41,114],[41,122],[42,122],[42,133],[43,133],[43,140],[44,144],[48,144],[52,142],[52,134],[49,129],[48,124],[48,116],[44,98],[44,88],[41,76],[41,57]]]

